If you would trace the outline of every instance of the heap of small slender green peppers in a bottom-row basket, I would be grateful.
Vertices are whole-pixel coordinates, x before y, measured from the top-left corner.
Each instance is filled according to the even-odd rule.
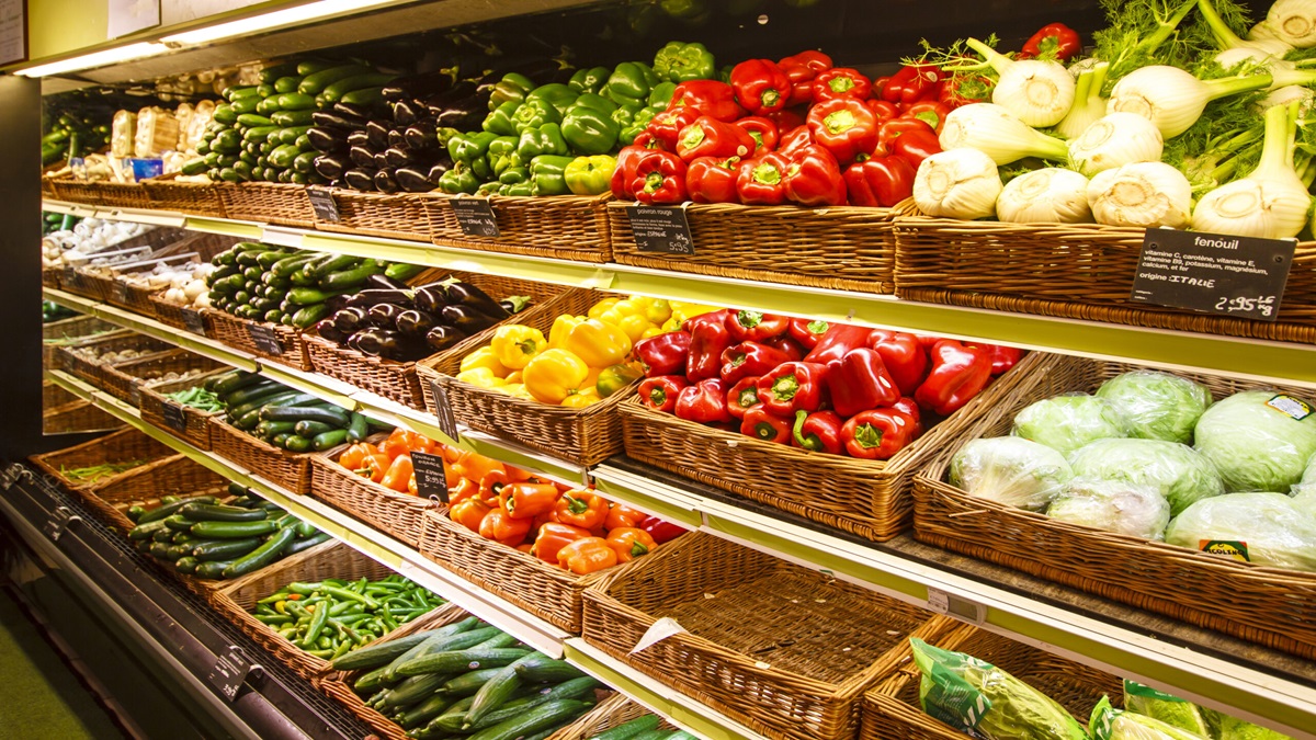
[[[443,603],[401,575],[295,582],[257,602],[254,616],[308,653],[333,660]]]

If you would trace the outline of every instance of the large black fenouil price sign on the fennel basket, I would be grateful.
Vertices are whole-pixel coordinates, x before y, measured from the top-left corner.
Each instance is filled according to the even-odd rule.
[[[1296,244],[1148,229],[1129,300],[1275,321]]]

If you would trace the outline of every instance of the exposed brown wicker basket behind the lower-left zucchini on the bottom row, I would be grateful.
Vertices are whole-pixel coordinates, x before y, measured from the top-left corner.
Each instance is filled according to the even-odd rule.
[[[79,491],[101,521],[128,532],[134,527],[124,512],[132,504],[158,506],[163,496],[195,498],[226,495],[229,482],[182,454],[175,454]]]

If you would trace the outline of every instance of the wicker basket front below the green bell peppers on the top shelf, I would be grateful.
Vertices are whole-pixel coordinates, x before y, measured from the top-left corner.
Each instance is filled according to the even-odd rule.
[[[429,216],[429,236],[440,246],[550,257],[575,262],[608,262],[612,238],[607,203],[611,196],[565,195],[557,198],[491,196],[499,236],[462,233],[449,201],[457,196],[418,196]],[[462,196],[468,198],[468,196]]]

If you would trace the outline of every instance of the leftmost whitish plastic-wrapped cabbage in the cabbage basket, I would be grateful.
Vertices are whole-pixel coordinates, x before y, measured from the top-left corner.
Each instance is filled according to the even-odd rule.
[[[951,485],[1030,511],[1046,508],[1073,477],[1061,453],[1020,437],[974,440],[950,460]]]

